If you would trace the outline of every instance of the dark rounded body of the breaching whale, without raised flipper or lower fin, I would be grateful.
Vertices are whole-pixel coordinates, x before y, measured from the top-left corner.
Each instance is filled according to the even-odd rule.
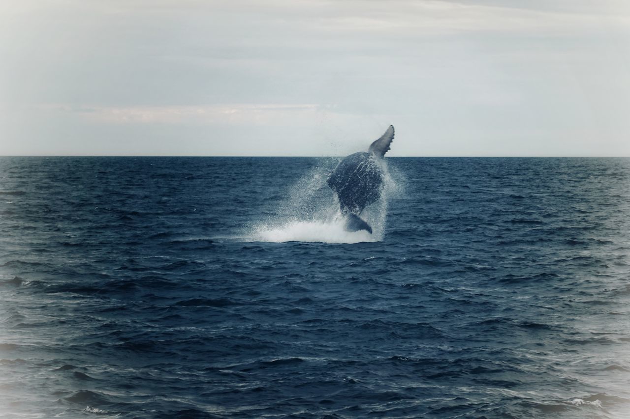
[[[326,183],[337,194],[341,213],[359,215],[366,206],[381,198],[383,178],[383,170],[374,154],[358,152],[341,160]]]

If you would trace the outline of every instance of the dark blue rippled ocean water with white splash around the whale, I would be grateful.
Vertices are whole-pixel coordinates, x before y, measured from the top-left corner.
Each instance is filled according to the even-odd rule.
[[[0,416],[630,417],[630,160],[0,158]]]

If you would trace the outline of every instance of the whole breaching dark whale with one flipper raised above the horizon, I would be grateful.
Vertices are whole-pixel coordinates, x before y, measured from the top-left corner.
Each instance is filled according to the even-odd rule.
[[[366,206],[381,198],[384,172],[379,160],[385,157],[393,140],[394,126],[390,125],[367,152],[350,154],[341,160],[326,180],[337,194],[341,214],[345,217],[344,228],[348,232],[366,230],[372,233],[372,227],[360,215]]]

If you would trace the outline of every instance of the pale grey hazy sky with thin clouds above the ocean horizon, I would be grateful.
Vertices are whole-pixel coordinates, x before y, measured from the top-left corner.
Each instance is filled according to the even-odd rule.
[[[5,0],[0,154],[630,155],[627,0]]]

